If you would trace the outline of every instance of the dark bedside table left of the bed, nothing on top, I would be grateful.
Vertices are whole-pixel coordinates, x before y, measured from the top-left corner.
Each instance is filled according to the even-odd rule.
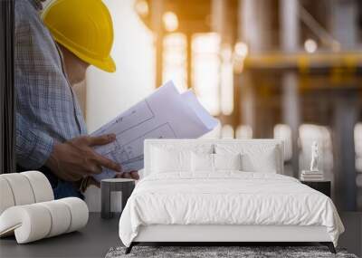
[[[122,192],[122,211],[135,188],[135,179],[130,178],[110,178],[100,181],[100,216],[102,218],[111,218],[113,213],[110,212],[110,193],[115,191]]]

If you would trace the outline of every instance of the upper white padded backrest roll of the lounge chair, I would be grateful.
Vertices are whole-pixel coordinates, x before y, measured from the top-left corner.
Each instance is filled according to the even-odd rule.
[[[52,186],[39,171],[0,175],[0,215],[14,205],[31,205],[53,199]]]

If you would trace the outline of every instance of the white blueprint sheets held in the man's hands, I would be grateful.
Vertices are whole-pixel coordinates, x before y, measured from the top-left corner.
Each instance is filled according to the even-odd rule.
[[[214,129],[214,119],[198,102],[192,91],[179,94],[172,81],[158,88],[117,118],[91,134],[116,134],[114,142],[96,147],[102,156],[119,163],[122,172],[143,168],[145,139],[196,139]],[[114,177],[104,168],[97,180]]]

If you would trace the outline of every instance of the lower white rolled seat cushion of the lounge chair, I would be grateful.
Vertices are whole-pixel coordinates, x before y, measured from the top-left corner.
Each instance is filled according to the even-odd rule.
[[[76,197],[16,205],[0,215],[0,237],[15,234],[17,243],[25,244],[78,230],[87,225],[88,216],[87,205]]]

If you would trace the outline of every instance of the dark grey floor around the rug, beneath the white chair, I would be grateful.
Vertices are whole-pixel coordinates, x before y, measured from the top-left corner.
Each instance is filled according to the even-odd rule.
[[[346,232],[338,246],[362,256],[362,213],[341,213]],[[88,225],[80,232],[63,234],[32,244],[16,244],[14,237],[0,240],[0,257],[104,257],[110,247],[119,246],[119,216],[103,220],[90,214]]]

